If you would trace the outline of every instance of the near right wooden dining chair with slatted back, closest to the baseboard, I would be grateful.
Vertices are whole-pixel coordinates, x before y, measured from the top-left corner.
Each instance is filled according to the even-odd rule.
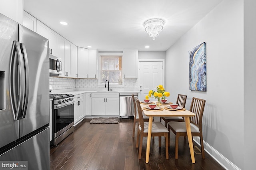
[[[201,152],[202,152],[202,159],[204,159],[204,142],[203,142],[203,132],[202,132],[202,117],[204,113],[204,99],[192,98],[190,111],[195,113],[194,117],[190,117],[190,127],[191,127],[191,134],[193,136],[200,137],[200,144],[201,144]],[[180,136],[187,136],[186,124],[185,122],[169,122],[168,123],[168,130],[174,132],[176,135],[175,137],[175,159],[178,159],[178,139]],[[170,136],[168,136],[168,142],[170,142]]]

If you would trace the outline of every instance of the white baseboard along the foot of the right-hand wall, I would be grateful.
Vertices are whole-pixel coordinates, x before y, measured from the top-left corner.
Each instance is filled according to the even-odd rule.
[[[200,146],[200,138],[193,137],[193,139]],[[226,170],[241,170],[205,141],[204,141],[204,151],[207,152],[210,156],[212,156],[212,158],[214,158],[214,160],[216,160]]]

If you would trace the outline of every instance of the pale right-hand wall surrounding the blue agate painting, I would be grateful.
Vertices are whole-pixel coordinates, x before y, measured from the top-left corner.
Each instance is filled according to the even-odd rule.
[[[223,0],[166,51],[166,89],[206,100],[204,141],[227,160],[244,168],[244,9],[243,0]],[[189,90],[188,51],[206,42],[207,92]],[[176,74],[172,79],[168,73]],[[212,150],[208,150],[211,153]],[[221,160],[223,161],[223,160]],[[230,162],[229,162],[230,161]],[[231,163],[232,162],[232,163]]]

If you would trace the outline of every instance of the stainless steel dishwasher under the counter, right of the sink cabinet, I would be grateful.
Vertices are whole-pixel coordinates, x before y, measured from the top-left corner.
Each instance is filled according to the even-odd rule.
[[[132,94],[138,99],[138,93],[119,93],[120,118],[133,118],[134,117],[134,105],[132,101]]]

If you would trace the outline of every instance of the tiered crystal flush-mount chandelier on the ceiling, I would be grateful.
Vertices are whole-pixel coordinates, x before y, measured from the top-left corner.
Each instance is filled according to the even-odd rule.
[[[160,18],[154,18],[146,20],[143,25],[148,35],[152,37],[153,40],[155,40],[155,37],[158,36],[159,32],[161,32],[164,29],[164,20]]]

